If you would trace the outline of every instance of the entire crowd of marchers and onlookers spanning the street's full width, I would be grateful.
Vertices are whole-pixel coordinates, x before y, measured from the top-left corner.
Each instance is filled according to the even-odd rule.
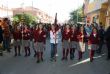
[[[101,54],[103,44],[107,45],[107,59],[110,59],[110,27],[107,30],[94,24],[86,25],[57,25],[51,24],[45,26],[39,23],[35,26],[28,26],[25,22],[14,23],[10,25],[9,20],[4,18],[0,20],[0,55],[3,51],[11,52],[14,48],[14,56],[21,56],[21,50],[24,50],[25,57],[31,55],[31,49],[35,52],[34,57],[37,63],[43,61],[44,50],[46,49],[46,39],[49,38],[51,45],[51,61],[56,61],[57,45],[59,39],[62,42],[61,60],[73,60],[75,51],[78,51],[78,60],[83,58],[83,53],[89,49],[90,61],[94,60],[95,52]],[[11,40],[14,39],[11,46]],[[21,48],[23,47],[23,48]],[[70,56],[68,56],[70,54]]]

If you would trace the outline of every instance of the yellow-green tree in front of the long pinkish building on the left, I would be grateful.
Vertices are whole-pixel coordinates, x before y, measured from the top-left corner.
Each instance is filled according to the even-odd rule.
[[[24,20],[26,25],[33,25],[33,23],[36,22],[37,17],[32,16],[31,14],[16,14],[13,16],[13,21],[14,22],[20,22],[21,20]]]

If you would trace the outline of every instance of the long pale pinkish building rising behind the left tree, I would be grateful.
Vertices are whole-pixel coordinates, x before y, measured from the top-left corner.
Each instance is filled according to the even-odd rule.
[[[42,22],[42,23],[53,22],[53,18],[51,16],[49,16],[47,13],[41,11],[38,8],[25,7],[25,8],[14,8],[13,9],[13,15],[22,14],[22,13],[32,14],[33,16],[36,16],[36,18],[39,20],[38,22]]]

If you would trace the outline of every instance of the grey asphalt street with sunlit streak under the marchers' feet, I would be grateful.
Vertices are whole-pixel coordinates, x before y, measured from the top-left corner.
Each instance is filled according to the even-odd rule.
[[[12,49],[13,51],[13,49]],[[24,52],[24,51],[22,51]],[[56,62],[50,61],[50,44],[47,40],[46,50],[44,51],[44,62],[36,63],[32,50],[30,57],[14,57],[14,52],[4,52],[0,56],[0,74],[109,74],[110,61],[106,60],[106,50],[102,55],[95,55],[95,60],[89,61],[89,54],[86,51],[83,60],[78,61],[77,51],[74,60],[61,61],[62,49],[61,42],[58,45],[58,57]]]

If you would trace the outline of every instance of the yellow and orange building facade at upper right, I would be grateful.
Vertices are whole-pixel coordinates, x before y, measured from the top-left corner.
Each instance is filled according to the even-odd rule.
[[[109,0],[85,0],[84,15],[89,23],[102,22],[103,26],[107,25],[109,9]]]

